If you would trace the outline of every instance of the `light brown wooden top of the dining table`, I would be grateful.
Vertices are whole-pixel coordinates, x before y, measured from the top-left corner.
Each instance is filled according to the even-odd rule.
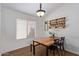
[[[58,38],[57,37],[56,38],[46,37],[46,38],[39,38],[38,40],[33,40],[33,41],[36,43],[45,45],[45,46],[50,46],[50,45],[54,44],[54,42],[55,42],[54,39],[58,39]]]

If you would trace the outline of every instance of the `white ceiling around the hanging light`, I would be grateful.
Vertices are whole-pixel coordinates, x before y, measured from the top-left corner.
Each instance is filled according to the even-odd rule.
[[[34,16],[37,16],[36,11],[39,9],[39,3],[3,3],[2,5]],[[45,16],[60,6],[62,3],[42,3],[42,9],[46,11]]]

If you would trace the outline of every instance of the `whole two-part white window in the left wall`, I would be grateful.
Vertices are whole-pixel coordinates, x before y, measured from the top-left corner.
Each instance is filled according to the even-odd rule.
[[[36,36],[36,22],[24,19],[16,20],[16,39],[33,38]]]

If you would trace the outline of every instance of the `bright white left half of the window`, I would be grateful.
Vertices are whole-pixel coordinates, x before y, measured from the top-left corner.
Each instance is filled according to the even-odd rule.
[[[27,38],[27,21],[23,19],[17,19],[16,22],[16,39]]]

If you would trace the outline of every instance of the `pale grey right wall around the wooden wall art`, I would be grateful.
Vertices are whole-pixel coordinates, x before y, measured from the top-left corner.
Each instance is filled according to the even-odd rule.
[[[65,49],[79,54],[79,4],[65,4],[52,12],[46,20],[66,17],[66,28],[54,30],[56,35],[65,36]],[[46,35],[48,32],[46,32]]]

